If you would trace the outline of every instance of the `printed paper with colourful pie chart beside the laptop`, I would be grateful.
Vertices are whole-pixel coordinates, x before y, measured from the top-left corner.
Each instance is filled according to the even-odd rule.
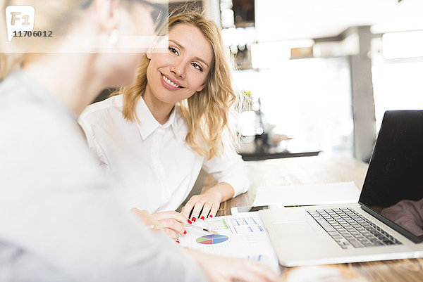
[[[208,233],[187,227],[187,235],[179,236],[180,245],[213,255],[240,257],[267,264],[279,272],[278,259],[258,212],[244,212],[215,217],[195,225],[216,231]]]

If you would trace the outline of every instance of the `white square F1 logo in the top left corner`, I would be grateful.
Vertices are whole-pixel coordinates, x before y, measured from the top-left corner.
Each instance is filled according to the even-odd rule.
[[[16,32],[34,30],[35,9],[32,6],[7,6],[6,26],[7,40],[10,42]]]

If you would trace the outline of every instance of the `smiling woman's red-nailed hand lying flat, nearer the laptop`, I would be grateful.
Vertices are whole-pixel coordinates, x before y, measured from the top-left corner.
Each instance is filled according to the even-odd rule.
[[[221,200],[222,196],[219,191],[206,191],[200,195],[192,196],[180,212],[187,218],[191,214],[192,222],[197,219],[212,218],[216,216]]]

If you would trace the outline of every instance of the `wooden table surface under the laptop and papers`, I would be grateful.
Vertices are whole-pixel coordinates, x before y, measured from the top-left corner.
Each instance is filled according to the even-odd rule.
[[[361,189],[367,171],[367,164],[364,162],[349,159],[329,159],[319,156],[260,160],[247,162],[247,166],[250,168],[252,180],[250,190],[243,195],[222,203],[217,215],[231,214],[231,207],[252,205],[258,186],[354,181],[355,185]],[[207,189],[207,187],[215,183],[214,178],[209,176],[204,182],[203,189]],[[319,269],[327,269],[327,276],[314,277],[310,281],[423,281],[423,259],[333,264],[319,267]],[[290,277],[293,278],[295,272],[298,271],[304,271],[303,274],[313,275],[319,272],[315,268],[309,267],[281,267],[282,280],[290,282]],[[331,271],[335,271],[338,274],[333,274]]]

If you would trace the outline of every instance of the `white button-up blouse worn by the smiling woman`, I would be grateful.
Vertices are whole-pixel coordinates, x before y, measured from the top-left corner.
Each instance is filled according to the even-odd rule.
[[[185,143],[188,127],[178,108],[160,124],[137,101],[138,122],[122,115],[122,95],[107,98],[85,108],[79,123],[100,166],[121,189],[128,209],[149,212],[176,210],[190,193],[203,168],[216,180],[231,184],[235,196],[247,191],[247,167],[232,148],[221,157],[207,160]]]

